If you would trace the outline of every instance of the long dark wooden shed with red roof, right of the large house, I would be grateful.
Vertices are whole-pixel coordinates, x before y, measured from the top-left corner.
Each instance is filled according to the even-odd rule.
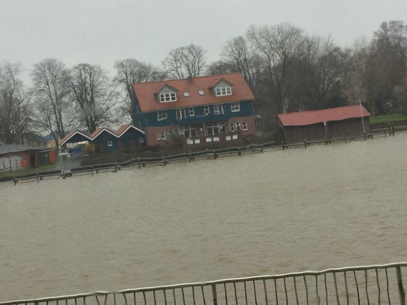
[[[292,144],[362,136],[370,133],[369,116],[361,105],[279,114],[276,141]]]

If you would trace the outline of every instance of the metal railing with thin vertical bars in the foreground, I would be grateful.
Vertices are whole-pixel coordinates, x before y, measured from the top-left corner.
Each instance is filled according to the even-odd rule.
[[[0,305],[107,304],[401,304],[405,305],[402,267],[386,265],[225,279],[121,291],[0,302]]]

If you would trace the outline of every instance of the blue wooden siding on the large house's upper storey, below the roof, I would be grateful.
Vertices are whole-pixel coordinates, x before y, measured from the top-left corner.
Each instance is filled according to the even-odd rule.
[[[136,111],[138,107],[138,102],[133,103],[133,109]],[[204,113],[204,106],[195,106],[194,108],[194,116],[189,115],[188,108],[185,108],[186,117],[184,117],[184,110],[183,118],[177,119],[177,110],[176,109],[168,109],[167,111],[167,118],[163,120],[158,120],[157,111],[149,112],[149,113],[141,113],[134,112],[133,114],[133,121],[134,124],[138,127],[146,127],[146,124],[142,124],[142,121],[146,121],[148,127],[156,127],[156,126],[168,126],[173,124],[181,124],[181,125],[189,125],[195,123],[202,123],[202,122],[211,122],[211,121],[220,121],[220,120],[227,120],[232,117],[240,117],[240,116],[250,116],[253,115],[253,107],[252,101],[241,101],[240,102],[240,111],[232,112],[231,111],[231,103],[219,104],[219,107],[223,108],[223,114],[215,115],[213,111],[214,105],[208,105],[210,113],[205,115]],[[184,109],[184,108],[183,108]],[[178,110],[179,111],[179,110]],[[137,125],[139,124],[139,125]]]

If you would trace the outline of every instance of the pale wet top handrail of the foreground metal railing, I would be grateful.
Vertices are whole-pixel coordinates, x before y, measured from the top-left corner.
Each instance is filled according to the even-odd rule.
[[[385,269],[385,268],[405,267],[405,266],[407,266],[407,262],[389,263],[389,264],[384,264],[384,265],[367,265],[367,266],[328,268],[328,269],[324,269],[324,270],[320,270],[320,271],[290,272],[290,273],[281,273],[278,275],[265,275],[265,276],[255,276],[255,277],[245,277],[245,278],[230,278],[230,279],[207,281],[207,282],[185,283],[185,284],[176,284],[176,285],[167,285],[167,286],[152,286],[152,287],[143,287],[143,288],[135,288],[135,289],[124,289],[124,290],[118,290],[118,291],[95,291],[95,292],[90,292],[90,293],[52,296],[52,297],[44,297],[44,298],[36,298],[36,299],[23,299],[23,300],[0,302],[0,305],[38,303],[38,302],[57,301],[57,300],[65,300],[65,299],[76,299],[76,298],[98,296],[98,295],[127,294],[127,293],[135,293],[135,292],[170,290],[170,289],[178,289],[178,288],[186,288],[186,287],[202,287],[202,286],[212,286],[212,285],[227,284],[227,283],[283,279],[283,278],[290,278],[290,277],[320,276],[320,275],[324,275],[326,273],[334,273],[334,272]]]

